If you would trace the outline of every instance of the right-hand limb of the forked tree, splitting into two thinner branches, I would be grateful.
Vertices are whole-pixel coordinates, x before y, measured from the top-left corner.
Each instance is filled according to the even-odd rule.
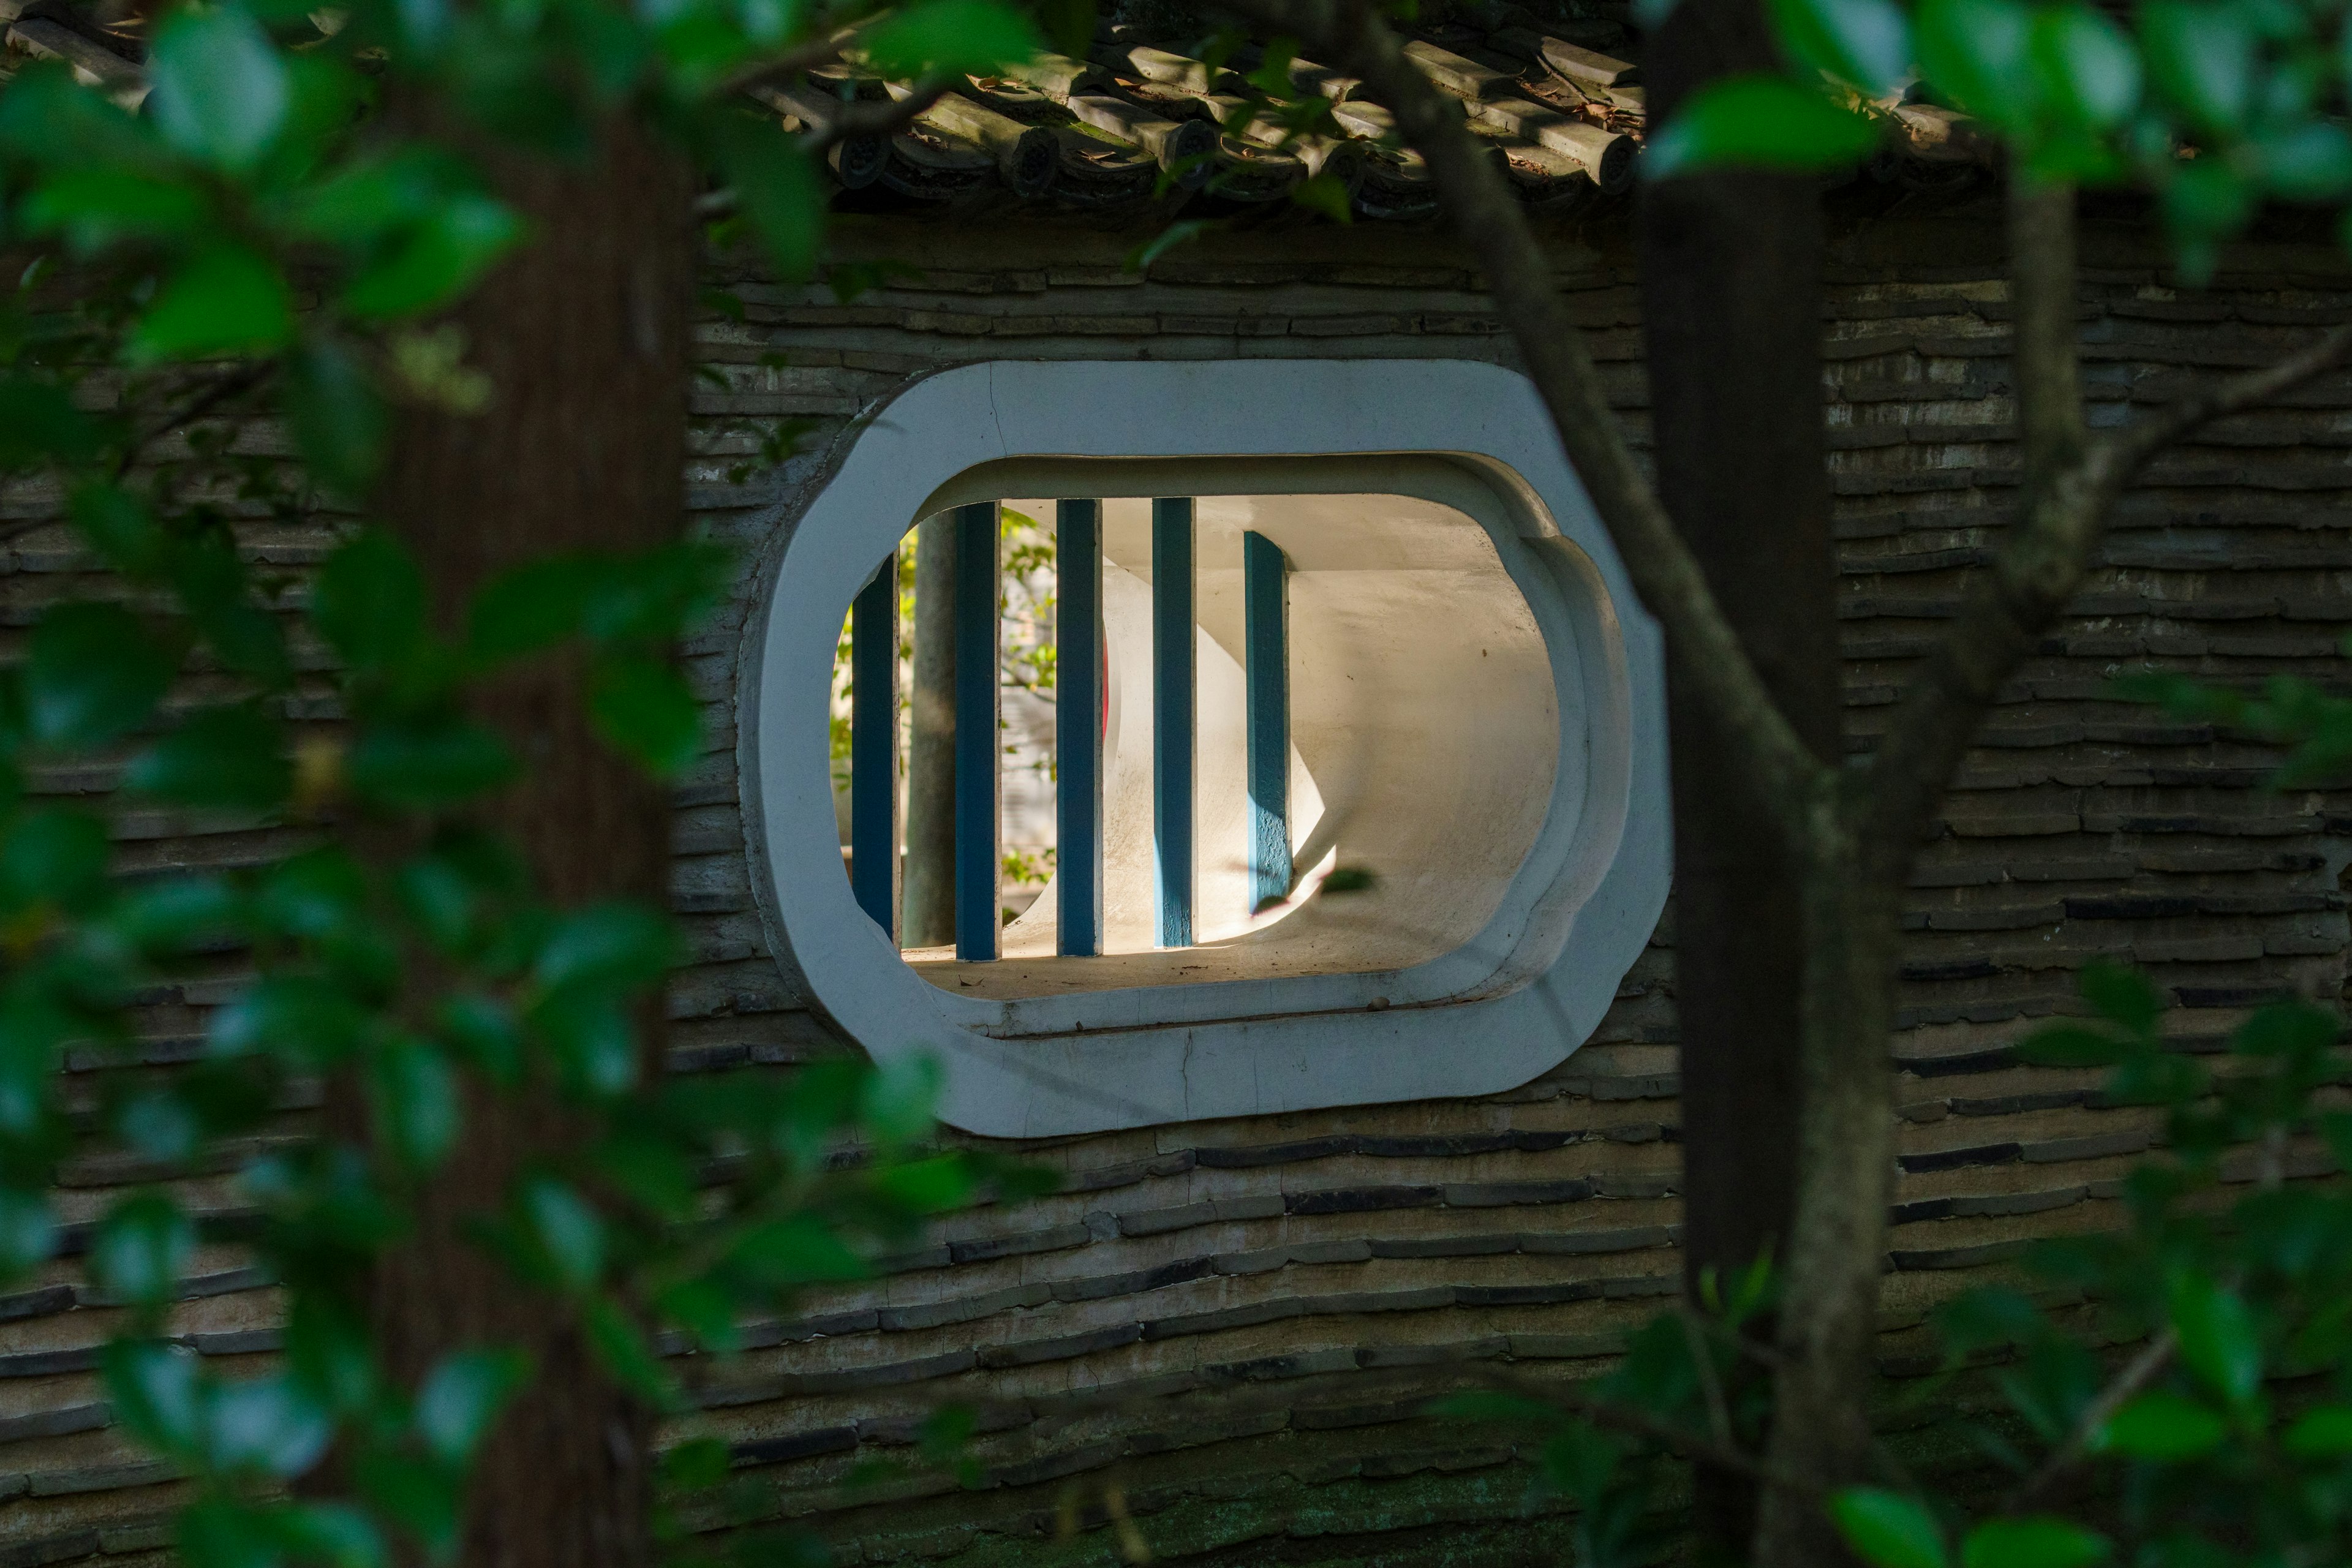
[[[2074,353],[2072,190],[2016,179],[2009,221],[2025,489],[2016,527],[1992,567],[1969,585],[1952,630],[1903,693],[1865,773],[1865,860],[1870,875],[1884,879],[1903,877],[2002,682],[2074,597],[2107,512],[2147,461],[2216,418],[2310,381],[2352,350],[2352,324],[2333,327],[2277,364],[2086,437]]]

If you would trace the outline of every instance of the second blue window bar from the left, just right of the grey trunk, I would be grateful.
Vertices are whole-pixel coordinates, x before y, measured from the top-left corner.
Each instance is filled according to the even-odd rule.
[[[997,957],[997,503],[955,508],[955,957]]]

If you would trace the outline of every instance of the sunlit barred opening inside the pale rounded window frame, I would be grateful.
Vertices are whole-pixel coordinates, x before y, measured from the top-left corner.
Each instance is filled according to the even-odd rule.
[[[1557,717],[1526,602],[1446,505],[955,505],[849,611],[844,860],[856,907],[962,994],[1402,966],[1491,912],[1541,827]],[[1254,950],[1343,839],[1343,884],[1364,867],[1395,896]]]

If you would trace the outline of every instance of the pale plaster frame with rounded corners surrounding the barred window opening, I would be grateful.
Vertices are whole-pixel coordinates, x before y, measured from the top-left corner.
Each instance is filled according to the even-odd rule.
[[[842,875],[828,755],[849,599],[915,520],[1014,494],[983,465],[1157,458],[1127,494],[1423,494],[1486,527],[1555,670],[1562,766],[1486,929],[1409,969],[1056,997],[950,994]],[[974,494],[962,494],[969,489]],[[1030,494],[1028,489],[1018,494]],[[1665,665],[1529,381],[1475,360],[995,360],[910,383],[779,520],[741,764],[779,961],[877,1060],[931,1053],[941,1117],[1042,1138],[1515,1088],[1599,1025],[1670,884]],[[1581,719],[1581,722],[1578,722]]]

